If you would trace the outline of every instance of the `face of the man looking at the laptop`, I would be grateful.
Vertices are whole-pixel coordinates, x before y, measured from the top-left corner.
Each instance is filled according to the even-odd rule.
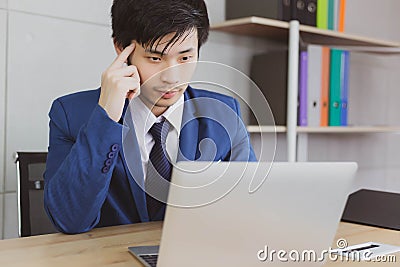
[[[183,35],[161,55],[173,36],[174,33],[164,36],[159,45],[152,49],[136,43],[135,51],[129,58],[140,75],[139,98],[156,116],[178,101],[185,92],[198,59],[197,30]]]

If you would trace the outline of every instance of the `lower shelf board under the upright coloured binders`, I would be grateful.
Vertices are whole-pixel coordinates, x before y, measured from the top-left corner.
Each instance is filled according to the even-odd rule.
[[[286,126],[247,126],[249,133],[285,133]],[[297,133],[400,133],[400,126],[296,127]]]

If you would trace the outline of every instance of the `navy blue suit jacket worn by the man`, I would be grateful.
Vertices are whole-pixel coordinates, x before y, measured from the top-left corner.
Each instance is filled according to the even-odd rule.
[[[44,206],[65,233],[149,221],[135,129],[111,120],[99,96],[97,89],[58,98],[49,113]],[[256,160],[234,98],[190,86],[184,98],[178,161]]]

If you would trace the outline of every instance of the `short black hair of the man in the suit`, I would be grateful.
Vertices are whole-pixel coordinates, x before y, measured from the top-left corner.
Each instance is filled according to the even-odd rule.
[[[175,33],[162,53],[197,29],[198,48],[208,38],[210,23],[203,0],[114,0],[111,8],[114,42],[127,47],[133,40],[154,48]]]

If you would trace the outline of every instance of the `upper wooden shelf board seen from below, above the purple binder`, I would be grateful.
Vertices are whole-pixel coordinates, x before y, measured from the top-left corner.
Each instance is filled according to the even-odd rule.
[[[260,17],[247,17],[228,20],[213,25],[211,30],[270,38],[276,41],[287,42],[289,35],[289,22]],[[323,30],[307,25],[300,25],[300,36],[306,43],[319,45],[400,48],[400,43],[397,42],[383,41],[331,30]]]

